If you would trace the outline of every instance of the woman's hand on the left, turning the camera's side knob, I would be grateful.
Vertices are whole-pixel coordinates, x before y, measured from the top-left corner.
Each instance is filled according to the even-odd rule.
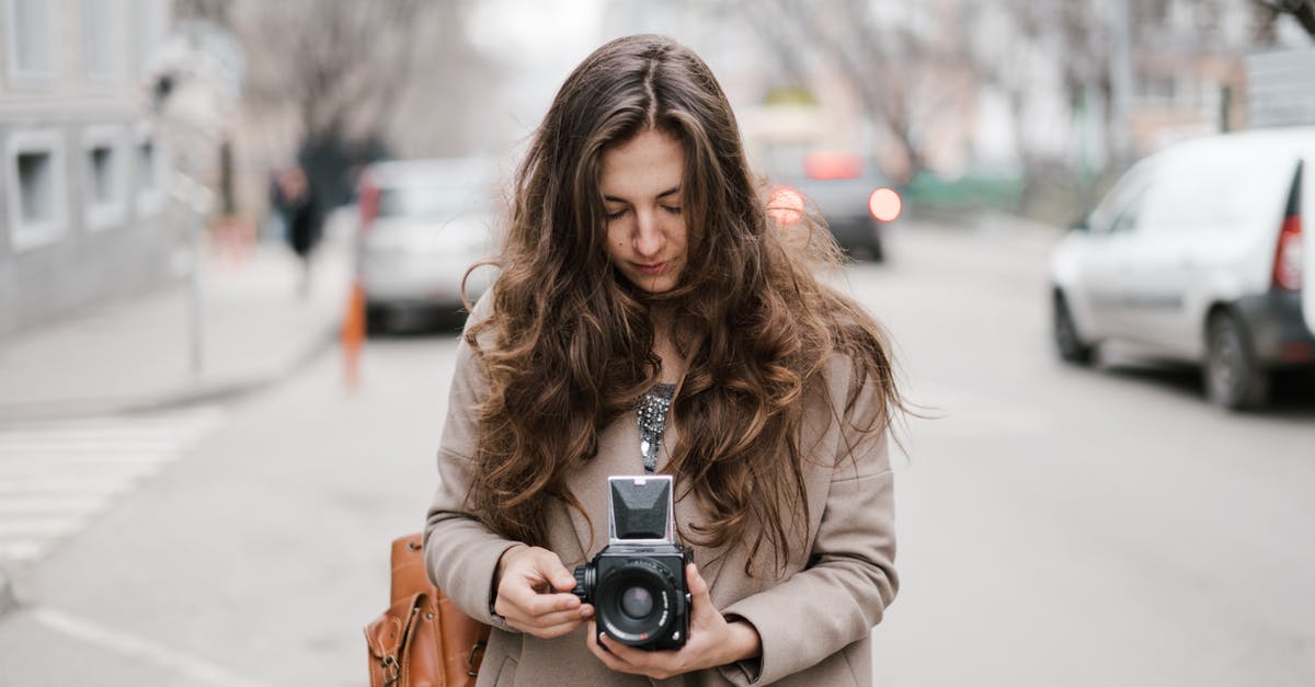
[[[568,634],[593,616],[593,607],[571,594],[575,575],[558,554],[517,545],[497,563],[493,612],[521,632],[551,640]]]

